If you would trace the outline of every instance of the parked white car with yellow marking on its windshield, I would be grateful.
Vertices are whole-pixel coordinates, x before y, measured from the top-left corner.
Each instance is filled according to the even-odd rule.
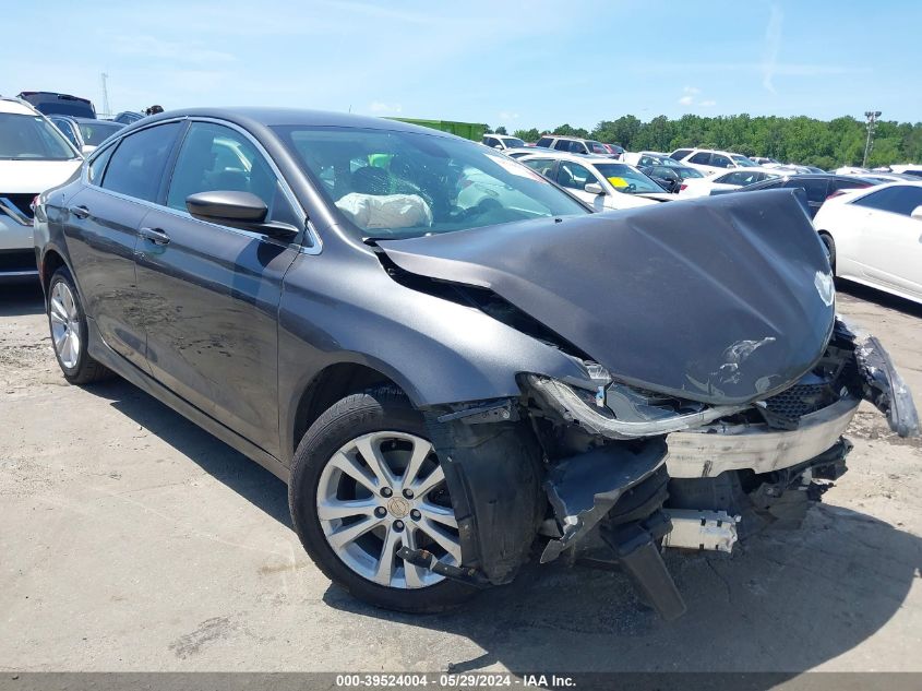
[[[596,211],[633,209],[674,199],[634,166],[603,156],[546,152],[518,160],[566,188]]]

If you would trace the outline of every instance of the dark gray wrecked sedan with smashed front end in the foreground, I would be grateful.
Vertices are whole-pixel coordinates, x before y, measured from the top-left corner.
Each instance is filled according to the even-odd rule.
[[[594,214],[434,130],[199,109],[108,140],[35,242],[64,378],[118,373],[283,478],[318,565],[383,607],[457,605],[538,541],[676,617],[661,544],[805,511],[862,397],[918,428],[788,191]]]

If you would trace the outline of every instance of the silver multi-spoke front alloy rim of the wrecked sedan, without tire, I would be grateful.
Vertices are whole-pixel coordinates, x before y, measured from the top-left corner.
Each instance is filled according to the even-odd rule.
[[[394,588],[422,588],[444,576],[404,562],[402,546],[460,563],[458,524],[431,442],[406,432],[362,434],[326,463],[316,513],[326,541],[349,569]]]

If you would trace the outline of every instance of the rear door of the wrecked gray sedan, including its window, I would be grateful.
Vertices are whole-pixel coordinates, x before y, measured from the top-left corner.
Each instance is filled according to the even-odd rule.
[[[64,221],[87,317],[112,350],[141,368],[146,368],[146,334],[134,266],[137,230],[159,193],[181,127],[146,128],[100,151]]]

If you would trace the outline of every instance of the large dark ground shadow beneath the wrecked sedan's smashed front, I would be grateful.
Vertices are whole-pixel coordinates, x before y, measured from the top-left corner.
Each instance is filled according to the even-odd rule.
[[[324,599],[360,616],[469,639],[484,652],[447,660],[446,669],[456,672],[501,664],[528,674],[793,677],[848,652],[894,617],[919,577],[920,555],[920,538],[821,504],[803,528],[765,533],[738,545],[733,555],[670,550],[667,563],[688,606],[673,622],[644,607],[624,574],[562,564],[530,565],[512,585],[488,589],[446,615],[382,611],[336,586]],[[765,688],[778,682],[766,677]]]

